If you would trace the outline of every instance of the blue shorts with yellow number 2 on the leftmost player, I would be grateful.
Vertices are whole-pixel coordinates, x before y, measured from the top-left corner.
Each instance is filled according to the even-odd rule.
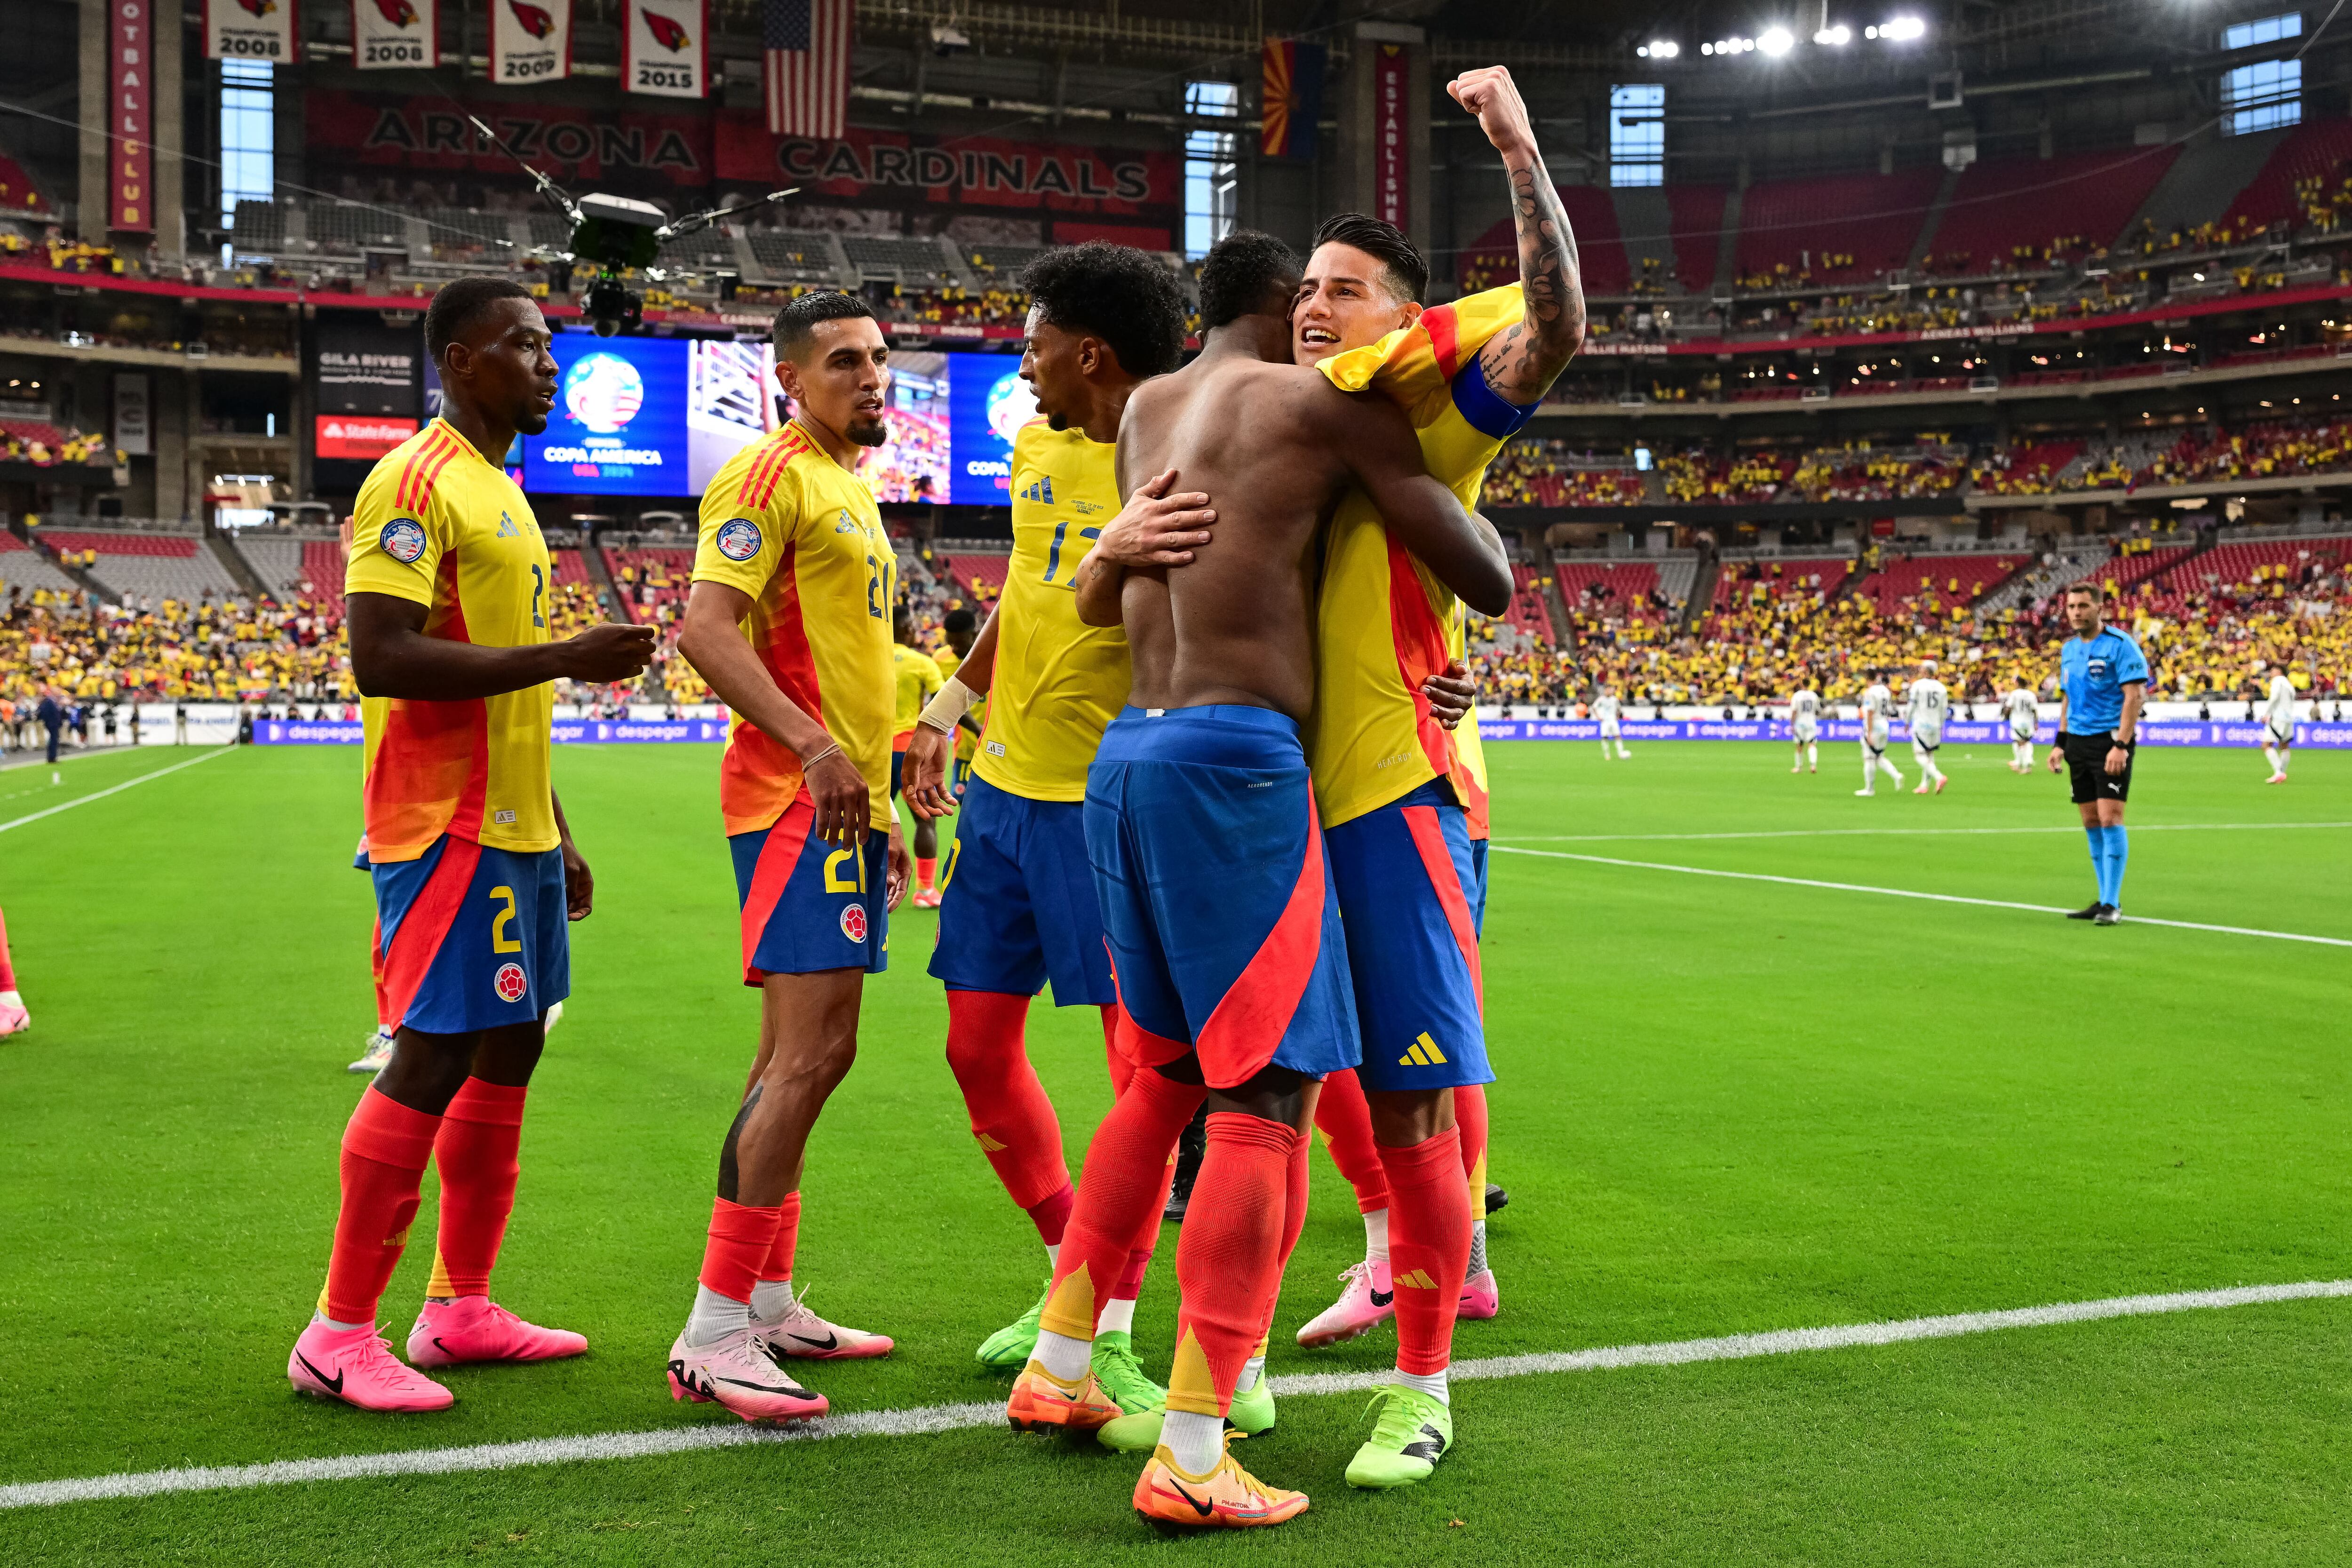
[[[442,835],[372,865],[376,1018],[419,1034],[529,1023],[572,994],[564,856]]]

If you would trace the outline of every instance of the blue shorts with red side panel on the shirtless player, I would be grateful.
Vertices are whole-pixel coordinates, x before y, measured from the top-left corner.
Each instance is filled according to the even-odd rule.
[[[1087,858],[1143,1065],[1211,1088],[1355,1067],[1355,999],[1298,726],[1268,708],[1127,708],[1087,771]]]

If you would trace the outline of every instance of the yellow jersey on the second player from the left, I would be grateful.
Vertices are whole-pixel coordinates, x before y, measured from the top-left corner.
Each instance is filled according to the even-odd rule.
[[[727,458],[703,491],[696,583],[753,597],[760,663],[866,776],[870,825],[889,827],[891,604],[898,557],[866,480],[800,421]],[[774,827],[800,795],[800,757],[736,715],[720,762],[727,835]]]

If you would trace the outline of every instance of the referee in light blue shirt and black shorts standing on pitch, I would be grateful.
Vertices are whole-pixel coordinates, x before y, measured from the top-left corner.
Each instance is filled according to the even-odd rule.
[[[2131,797],[2131,757],[2147,703],[2147,656],[2124,632],[2100,625],[2096,588],[2077,583],[2065,590],[2065,623],[2074,635],[2058,649],[2051,773],[2063,762],[2074,780],[2074,806],[2091,839],[2091,870],[2098,872],[2098,898],[2067,919],[2112,926],[2122,919],[2124,863],[2131,858],[2124,802]]]

